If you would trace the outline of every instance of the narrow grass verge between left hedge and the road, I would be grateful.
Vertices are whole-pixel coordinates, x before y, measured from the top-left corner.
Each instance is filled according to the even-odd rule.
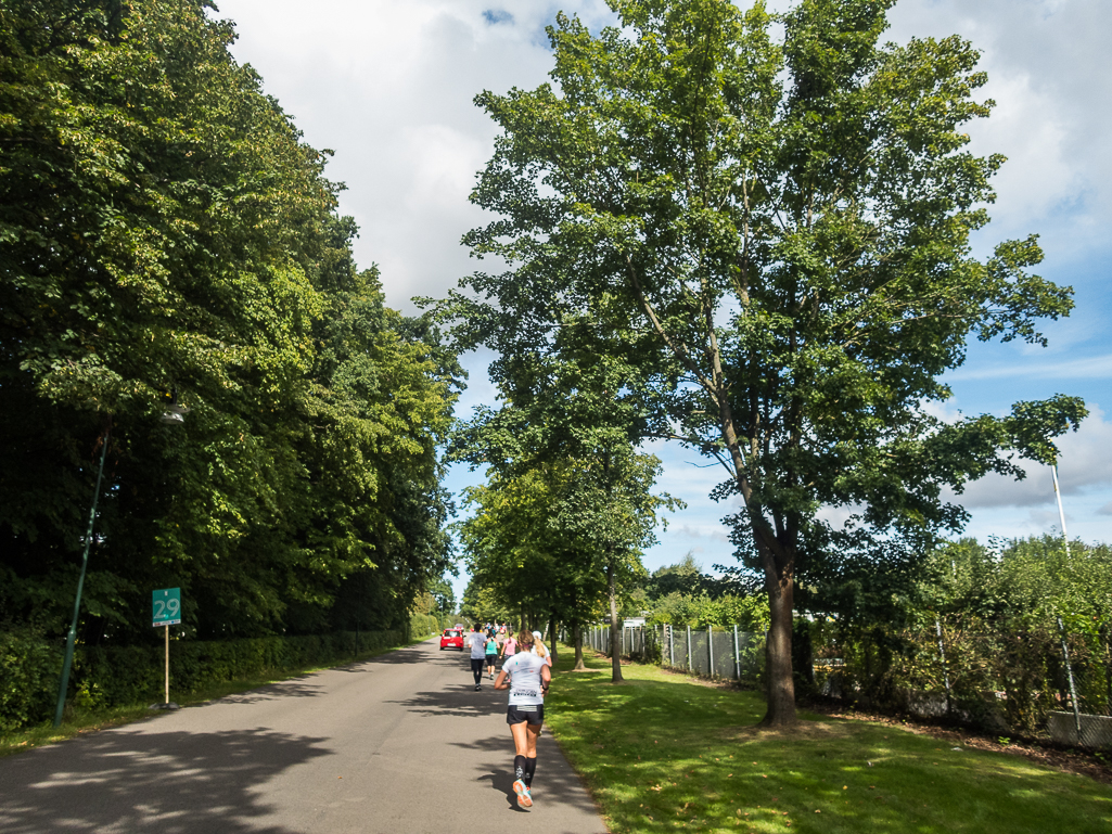
[[[171,679],[170,701],[183,707],[197,706],[198,704],[216,701],[217,698],[222,698],[227,695],[235,695],[240,692],[257,689],[260,686],[266,686],[267,684],[289,681],[290,678],[309,675],[321,669],[335,668],[336,666],[344,666],[349,663],[366,661],[371,657],[386,654],[387,652],[394,652],[398,648],[403,648],[405,645],[411,646],[416,643],[421,643],[427,641],[429,636],[433,635],[415,637],[408,644],[380,648],[374,652],[361,652],[358,656],[353,655],[350,658],[335,664],[328,664],[325,666],[307,666],[305,668],[271,669],[269,674],[264,676],[248,677],[237,681],[224,681],[218,684],[212,684],[211,686],[206,686],[197,692],[176,692],[172,686],[173,681]],[[108,727],[116,727],[121,724],[130,724],[131,722],[150,718],[158,714],[148,709],[151,703],[152,702],[150,701],[145,701],[141,704],[129,704],[127,706],[102,707],[95,709],[82,709],[79,707],[67,706],[66,715],[62,718],[61,726],[59,727],[54,727],[53,722],[48,721],[42,724],[36,724],[27,729],[0,734],[0,757],[10,756],[13,753],[22,753],[23,751],[31,749],[32,747],[40,747],[43,744],[53,744],[54,742],[61,742],[66,738],[72,738],[78,735],[96,733],[97,731],[106,729]]]

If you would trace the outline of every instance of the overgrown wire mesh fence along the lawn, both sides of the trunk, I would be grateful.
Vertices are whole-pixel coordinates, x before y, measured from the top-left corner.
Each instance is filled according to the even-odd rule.
[[[610,654],[609,624],[583,636]],[[951,615],[858,632],[813,624],[811,637],[807,672],[820,695],[1002,736],[1112,748],[1112,627]],[[764,635],[737,626],[626,626],[618,639],[623,657],[692,674],[756,686],[764,671]]]

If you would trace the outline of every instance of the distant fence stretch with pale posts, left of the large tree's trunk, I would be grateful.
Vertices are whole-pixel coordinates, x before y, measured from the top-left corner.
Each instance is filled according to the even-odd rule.
[[[620,629],[620,655],[705,677],[757,686],[764,672],[764,635],[729,628],[691,626],[626,626]],[[584,631],[584,645],[610,654],[609,625]]]

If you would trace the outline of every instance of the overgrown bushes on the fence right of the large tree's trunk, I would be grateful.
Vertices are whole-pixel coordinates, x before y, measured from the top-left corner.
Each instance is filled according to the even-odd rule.
[[[857,633],[814,624],[818,694],[1002,736],[1112,747],[1112,633],[1058,617],[940,615]]]

